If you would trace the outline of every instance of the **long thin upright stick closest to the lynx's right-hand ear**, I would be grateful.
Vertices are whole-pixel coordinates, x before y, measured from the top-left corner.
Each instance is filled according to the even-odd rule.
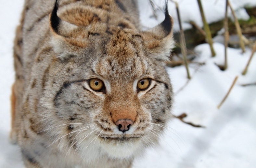
[[[184,62],[185,62],[185,67],[187,70],[187,78],[191,79],[190,74],[189,74],[189,69],[188,69],[188,64],[187,64],[187,47],[186,47],[186,41],[185,41],[185,35],[184,31],[181,25],[181,19],[180,19],[180,11],[179,11],[179,5],[177,2],[173,1],[176,6],[176,11],[177,11],[177,16],[179,20],[179,26],[180,26],[180,45],[181,45],[181,53],[184,57]]]

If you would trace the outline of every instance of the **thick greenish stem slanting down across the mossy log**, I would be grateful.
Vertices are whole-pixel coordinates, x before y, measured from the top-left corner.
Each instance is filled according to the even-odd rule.
[[[205,19],[201,0],[197,0],[197,2],[198,2],[199,9],[200,9],[201,17],[202,17],[202,20],[203,20],[203,23],[204,23],[204,30],[206,32],[207,42],[208,42],[208,44],[210,45],[210,48],[211,48],[211,56],[214,57],[216,54],[215,54],[214,48],[212,46],[213,42],[212,42],[212,38],[211,38],[210,27],[209,27],[209,25],[208,25],[208,23]]]

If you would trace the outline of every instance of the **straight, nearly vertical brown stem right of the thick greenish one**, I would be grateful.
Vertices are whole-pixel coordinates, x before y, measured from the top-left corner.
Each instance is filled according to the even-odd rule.
[[[228,0],[226,0],[226,10],[225,10],[225,19],[224,19],[224,45],[225,45],[225,63],[224,63],[224,70],[227,69],[227,45],[229,41],[229,33],[228,33],[228,17],[227,17],[227,7],[228,7]]]

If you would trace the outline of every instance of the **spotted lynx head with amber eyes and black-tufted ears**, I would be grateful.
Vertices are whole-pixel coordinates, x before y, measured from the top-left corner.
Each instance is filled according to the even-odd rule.
[[[174,43],[167,5],[164,21],[148,31],[100,13],[77,26],[57,10],[58,1],[49,16],[56,60],[43,100],[47,120],[67,124],[55,133],[70,133],[63,143],[80,153],[94,147],[111,158],[157,143],[173,94],[164,67]]]

